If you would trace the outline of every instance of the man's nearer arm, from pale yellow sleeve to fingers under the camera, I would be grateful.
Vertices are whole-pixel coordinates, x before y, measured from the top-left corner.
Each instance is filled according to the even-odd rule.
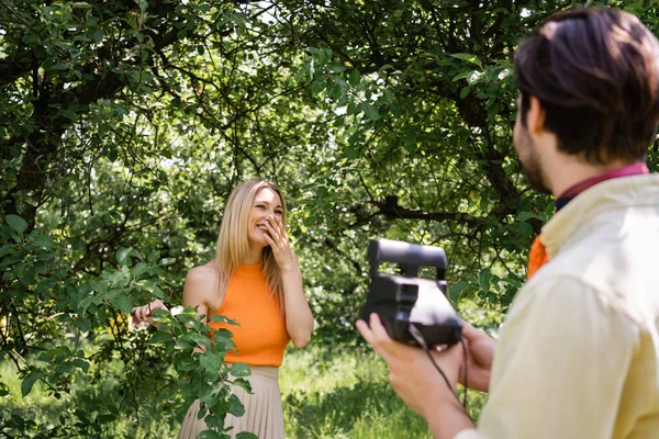
[[[398,344],[379,318],[358,329],[391,367],[392,387],[434,438],[610,438],[636,327],[579,280],[521,291],[500,333],[490,398],[478,430],[418,349]],[[455,385],[461,350],[433,352]]]

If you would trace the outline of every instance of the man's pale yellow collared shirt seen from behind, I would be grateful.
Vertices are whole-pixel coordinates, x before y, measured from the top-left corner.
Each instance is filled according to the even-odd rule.
[[[590,188],[541,239],[478,430],[456,438],[659,438],[659,176]]]

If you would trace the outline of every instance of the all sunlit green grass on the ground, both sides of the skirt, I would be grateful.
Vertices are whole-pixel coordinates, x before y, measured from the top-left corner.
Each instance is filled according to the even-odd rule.
[[[1,381],[10,395],[0,398],[0,425],[11,414],[33,420],[23,436],[0,437],[90,437],[75,428],[62,428],[59,417],[70,419],[85,408],[90,423],[111,404],[123,398],[122,369],[105,370],[101,382],[78,378],[70,395],[59,399],[37,383],[21,397],[20,380],[13,365],[0,363]],[[388,368],[372,351],[349,347],[310,347],[290,350],[280,373],[287,438],[387,439],[431,438],[424,420],[399,399],[387,381]],[[146,390],[145,390],[146,392]],[[102,426],[99,438],[175,438],[186,407],[180,402],[141,397],[138,407],[124,407],[115,420]],[[474,416],[483,397],[470,394],[469,408]],[[45,436],[40,436],[45,435]],[[68,436],[67,436],[68,435]]]

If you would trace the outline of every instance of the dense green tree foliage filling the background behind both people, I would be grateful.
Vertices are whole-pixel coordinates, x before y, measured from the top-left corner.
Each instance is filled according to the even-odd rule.
[[[587,3],[659,31],[655,1]],[[107,413],[71,410],[74,431],[176,389],[186,371],[125,313],[180,303],[226,195],[253,176],[288,195],[320,342],[360,344],[372,237],[445,247],[451,299],[498,324],[554,211],[512,146],[512,54],[581,5],[2,0],[0,351],[22,389],[2,379],[0,397],[43,385],[66,399],[76,376],[121,362],[113,389],[130,391]],[[182,409],[183,389],[167,404]]]

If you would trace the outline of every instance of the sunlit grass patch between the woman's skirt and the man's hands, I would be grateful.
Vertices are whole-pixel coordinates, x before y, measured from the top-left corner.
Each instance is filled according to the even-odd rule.
[[[431,438],[427,426],[391,390],[372,351],[311,347],[287,352],[280,385],[287,438]],[[469,394],[477,416],[483,396]]]

